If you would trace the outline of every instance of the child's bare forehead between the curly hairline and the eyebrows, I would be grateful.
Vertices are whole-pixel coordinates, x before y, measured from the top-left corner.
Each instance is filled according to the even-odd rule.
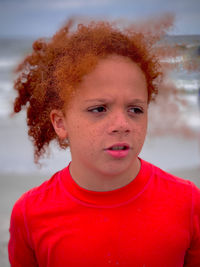
[[[83,77],[70,102],[93,99],[107,99],[110,102],[117,98],[147,102],[148,92],[140,67],[127,58],[112,56],[99,60],[96,67]]]

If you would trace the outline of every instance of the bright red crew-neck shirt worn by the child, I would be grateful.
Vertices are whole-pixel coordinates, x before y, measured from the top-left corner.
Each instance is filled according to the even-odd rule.
[[[199,267],[200,190],[141,160],[130,184],[94,192],[67,167],[16,202],[9,259],[14,267]]]

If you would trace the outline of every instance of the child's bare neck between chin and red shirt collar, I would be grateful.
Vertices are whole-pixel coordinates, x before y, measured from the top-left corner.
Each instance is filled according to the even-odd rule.
[[[91,170],[84,166],[80,167],[79,164],[75,164],[72,160],[69,170],[73,180],[80,187],[91,191],[103,192],[115,190],[129,184],[139,173],[140,165],[140,160],[137,158],[126,171],[112,175]]]

